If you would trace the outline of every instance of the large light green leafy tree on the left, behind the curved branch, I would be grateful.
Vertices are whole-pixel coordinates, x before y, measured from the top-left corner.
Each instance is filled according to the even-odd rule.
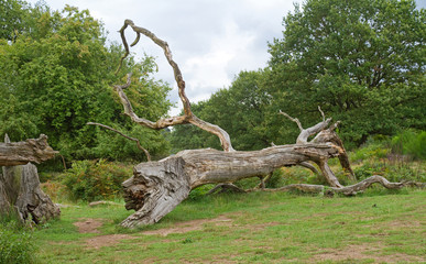
[[[136,157],[139,150],[129,144],[106,150],[106,136],[88,121],[112,124],[145,136],[143,143],[153,154],[166,148],[163,136],[154,131],[133,130],[121,116],[118,98],[110,85],[123,74],[113,75],[122,48],[107,46],[102,24],[87,10],[65,7],[63,13],[45,6],[25,10],[24,30],[13,43],[0,40],[0,134],[12,140],[48,134],[51,144],[67,158]],[[135,111],[146,117],[166,114],[171,103],[166,84],[154,80],[155,63],[128,61],[123,69],[133,72],[129,92],[138,103]],[[155,107],[146,108],[148,102]],[[108,139],[110,143],[111,139]],[[119,140],[121,142],[121,139]],[[140,154],[143,160],[143,154]]]

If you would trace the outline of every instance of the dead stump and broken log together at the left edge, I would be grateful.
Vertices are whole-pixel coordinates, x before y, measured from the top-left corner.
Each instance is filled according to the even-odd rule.
[[[22,222],[34,223],[58,218],[58,206],[40,188],[37,168],[29,163],[46,161],[57,153],[48,146],[47,136],[10,143],[6,135],[4,142],[0,144],[0,215],[15,213]]]

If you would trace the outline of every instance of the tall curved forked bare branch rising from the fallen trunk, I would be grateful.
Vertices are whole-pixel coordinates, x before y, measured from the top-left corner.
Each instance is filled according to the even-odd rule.
[[[143,119],[143,118],[139,118],[134,113],[134,111],[132,109],[132,106],[131,106],[128,97],[125,96],[125,94],[123,91],[123,86],[116,86],[114,87],[116,91],[119,95],[121,103],[124,107],[124,113],[127,116],[129,116],[132,119],[132,121],[134,121],[134,122],[136,122],[136,123],[139,123],[141,125],[144,125],[146,128],[154,129],[154,130],[160,130],[160,129],[164,129],[164,128],[167,128],[167,127],[171,127],[171,125],[176,125],[176,124],[192,123],[192,124],[194,124],[194,125],[196,125],[196,127],[198,127],[198,128],[200,128],[200,129],[203,129],[203,130],[205,130],[205,131],[207,131],[209,133],[212,133],[212,134],[217,135],[219,138],[219,140],[220,140],[220,144],[221,144],[223,151],[226,151],[226,152],[233,151],[232,144],[231,144],[231,141],[230,141],[230,136],[229,136],[229,134],[225,130],[222,130],[218,125],[211,124],[209,122],[206,122],[206,121],[197,118],[193,113],[193,111],[190,109],[189,99],[186,97],[186,94],[185,94],[185,81],[184,81],[184,78],[182,76],[182,73],[181,73],[181,69],[179,69],[178,65],[173,61],[172,52],[171,52],[171,50],[168,47],[168,44],[165,41],[159,38],[151,31],[134,25],[133,21],[131,21],[131,20],[125,20],[124,21],[124,25],[120,29],[120,35],[121,35],[122,43],[124,45],[125,53],[121,57],[120,66],[119,66],[119,68],[117,69],[116,73],[118,73],[121,69],[123,59],[130,53],[129,44],[128,44],[128,42],[125,40],[125,35],[124,35],[124,31],[125,31],[125,29],[128,26],[130,26],[136,33],[136,38],[131,44],[131,46],[136,45],[139,40],[140,40],[140,35],[143,34],[143,35],[148,36],[149,38],[151,38],[161,48],[163,48],[164,55],[165,55],[168,64],[173,68],[174,77],[175,77],[175,80],[176,80],[176,84],[177,84],[177,87],[178,87],[178,95],[179,95],[181,101],[182,101],[182,103],[184,106],[184,116],[160,119],[156,122],[153,122],[153,121],[150,121],[150,120],[146,120],[146,119]],[[128,82],[129,81],[130,81],[130,77],[128,77]]]

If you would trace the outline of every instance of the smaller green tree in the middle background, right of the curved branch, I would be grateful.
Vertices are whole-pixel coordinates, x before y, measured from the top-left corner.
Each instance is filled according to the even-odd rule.
[[[194,113],[225,129],[239,151],[260,150],[271,144],[264,127],[264,108],[271,96],[262,88],[263,72],[241,72],[228,89],[212,94],[207,101],[193,105]],[[217,136],[193,125],[173,131],[172,144],[177,150],[221,148]]]

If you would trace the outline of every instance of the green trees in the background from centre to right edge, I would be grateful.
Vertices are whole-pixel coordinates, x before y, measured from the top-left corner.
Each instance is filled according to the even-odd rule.
[[[342,121],[339,134],[350,148],[370,135],[425,130],[426,13],[414,1],[308,0],[283,25],[266,68],[242,72],[194,107],[227,130],[237,150],[294,143],[297,127],[278,110],[309,127],[320,118],[318,106]],[[176,150],[219,146],[194,128],[175,131]]]

